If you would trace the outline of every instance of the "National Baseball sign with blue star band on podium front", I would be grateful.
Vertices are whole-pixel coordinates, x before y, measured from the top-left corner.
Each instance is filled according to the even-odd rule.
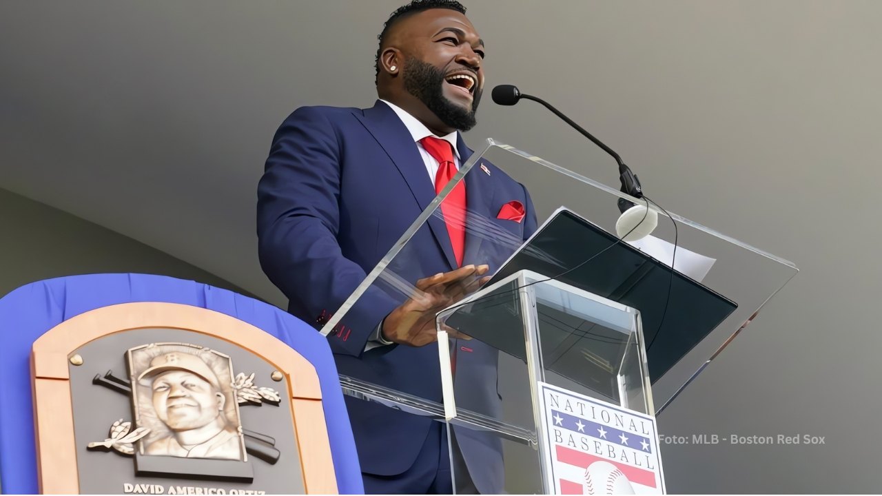
[[[655,418],[540,382],[554,494],[664,494]]]

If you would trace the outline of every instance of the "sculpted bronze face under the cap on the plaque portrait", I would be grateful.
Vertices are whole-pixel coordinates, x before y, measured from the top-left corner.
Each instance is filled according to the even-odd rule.
[[[173,431],[189,431],[210,424],[223,408],[224,397],[198,375],[163,372],[153,380],[156,416]]]

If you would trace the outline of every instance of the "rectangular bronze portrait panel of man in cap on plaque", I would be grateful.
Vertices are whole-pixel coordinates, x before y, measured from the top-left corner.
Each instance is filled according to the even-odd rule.
[[[245,461],[230,357],[183,343],[128,352],[139,455]]]

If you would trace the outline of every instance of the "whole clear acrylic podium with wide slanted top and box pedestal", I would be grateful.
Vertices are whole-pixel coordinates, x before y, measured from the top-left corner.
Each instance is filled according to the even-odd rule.
[[[616,237],[610,237],[608,244],[576,246],[571,259],[556,258],[537,249],[534,257],[538,262],[532,271],[510,274],[447,309],[438,309],[439,331],[453,329],[471,336],[470,340],[450,339],[427,345],[443,347],[440,356],[450,357],[445,363],[440,359],[438,362],[442,378],[449,381],[445,385],[447,404],[445,397],[407,395],[357,378],[340,377],[347,395],[448,422],[452,439],[461,440],[460,444],[474,445],[477,440],[490,447],[480,461],[480,470],[498,479],[494,492],[550,493],[554,488],[542,475],[544,454],[537,443],[541,432],[537,381],[654,415],[676,399],[797,269],[787,260],[680,215],[666,214],[646,199],[634,199],[490,139],[425,207],[322,332],[328,334],[344,315],[366,304],[369,298],[362,297],[368,291],[382,291],[400,303],[419,297],[415,282],[432,274],[423,273],[421,254],[408,241],[415,236],[435,236],[445,229],[445,213],[448,222],[460,222],[466,230],[464,265],[486,264],[490,266],[489,274],[503,267],[527,240],[529,233],[524,228],[529,219],[517,221],[504,215],[502,209],[512,199],[496,198],[491,185],[489,192],[473,201],[470,192],[481,188],[482,182],[492,184],[488,181],[491,174],[499,174],[494,166],[525,186],[539,225],[557,209],[566,207],[597,228],[615,233],[621,214],[619,199],[647,205],[658,214],[658,227],[650,237],[632,242],[632,247],[662,264],[673,265],[677,273],[736,305],[719,322],[697,327],[691,325],[690,316],[698,316],[701,309],[688,298],[678,298],[681,293],[669,283],[656,284],[654,292],[643,294],[639,299],[642,307],[630,306],[628,302],[634,300],[629,300],[629,292],[619,289],[632,279],[617,278],[634,278],[640,268],[624,272],[610,269],[611,264],[622,262],[605,256],[612,252],[608,250],[626,243]],[[467,207],[465,212],[452,212],[444,202],[459,181],[467,184]],[[651,186],[648,194],[658,196],[654,199],[663,207],[662,194],[653,195]],[[560,237],[565,241],[567,233]],[[574,264],[579,266],[583,280],[596,276],[594,291],[557,280],[557,275]],[[482,353],[482,349],[491,352]],[[473,355],[480,355],[482,361],[469,363],[464,359]],[[458,451],[452,445],[452,453]],[[468,471],[475,470],[478,462],[474,455],[469,459],[467,449],[462,451],[465,460],[452,460],[457,491],[474,492],[469,481],[475,477],[470,477],[473,474]]]

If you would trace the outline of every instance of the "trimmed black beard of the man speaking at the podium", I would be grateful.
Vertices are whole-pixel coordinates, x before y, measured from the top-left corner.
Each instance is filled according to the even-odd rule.
[[[481,88],[475,88],[475,93],[472,94],[472,109],[466,110],[447,100],[443,86],[445,73],[434,65],[414,57],[407,57],[402,76],[405,91],[422,101],[445,125],[460,131],[468,131],[478,124],[475,120],[475,111],[481,101]]]

